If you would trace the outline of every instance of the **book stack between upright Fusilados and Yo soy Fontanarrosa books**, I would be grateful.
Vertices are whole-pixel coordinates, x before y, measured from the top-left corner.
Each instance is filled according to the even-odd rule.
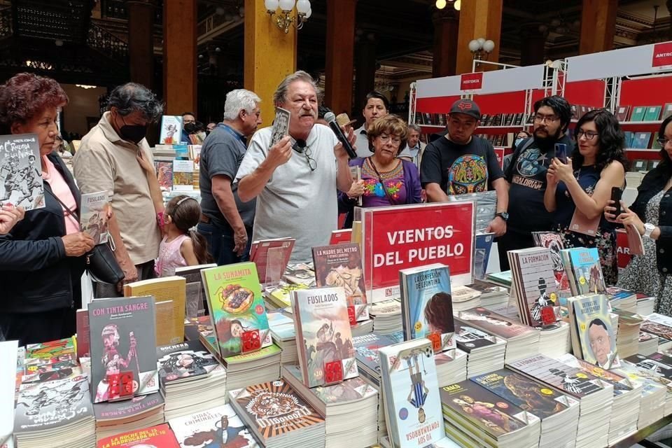
[[[353,337],[355,346],[355,357],[357,358],[360,377],[375,388],[378,393],[378,440],[387,435],[387,426],[385,422],[385,405],[383,402],[383,393],[380,381],[380,355],[378,350],[381,347],[392,345],[395,342],[384,335],[371,333],[369,335]]]

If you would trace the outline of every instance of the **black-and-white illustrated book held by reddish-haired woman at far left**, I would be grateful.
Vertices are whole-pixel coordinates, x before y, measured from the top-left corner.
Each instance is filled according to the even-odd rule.
[[[44,207],[44,186],[36,134],[0,136],[0,206]]]

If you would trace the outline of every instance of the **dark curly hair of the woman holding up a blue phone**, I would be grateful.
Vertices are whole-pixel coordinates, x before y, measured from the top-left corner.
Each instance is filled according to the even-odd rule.
[[[600,148],[596,155],[595,169],[601,172],[604,167],[616,160],[623,165],[625,171],[628,170],[629,162],[625,155],[625,134],[619,125],[617,118],[613,113],[606,109],[594,109],[582,116],[574,128],[574,139],[577,144],[572,151],[572,165],[575,169],[582,167],[583,156],[579,151],[577,132],[581,127],[590,122],[595,123],[597,128],[597,138]]]

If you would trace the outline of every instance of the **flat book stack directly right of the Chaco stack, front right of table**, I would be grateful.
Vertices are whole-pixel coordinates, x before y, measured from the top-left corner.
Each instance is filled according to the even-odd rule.
[[[574,398],[509,369],[471,381],[540,419],[539,448],[574,446],[579,423],[579,402]]]

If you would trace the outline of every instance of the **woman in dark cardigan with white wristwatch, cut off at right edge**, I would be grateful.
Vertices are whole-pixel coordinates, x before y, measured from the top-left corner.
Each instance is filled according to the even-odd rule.
[[[644,255],[633,255],[618,286],[656,297],[655,311],[672,316],[672,117],[660,125],[661,162],[644,176],[630,206],[622,213],[610,200],[604,209],[609,221],[631,224],[643,235]]]

